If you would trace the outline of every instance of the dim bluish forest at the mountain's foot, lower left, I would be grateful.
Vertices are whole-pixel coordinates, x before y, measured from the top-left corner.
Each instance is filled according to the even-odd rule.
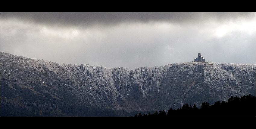
[[[114,111],[106,108],[87,107],[65,104],[64,101],[1,101],[1,116],[8,117],[49,117],[49,116],[125,116],[125,111]]]

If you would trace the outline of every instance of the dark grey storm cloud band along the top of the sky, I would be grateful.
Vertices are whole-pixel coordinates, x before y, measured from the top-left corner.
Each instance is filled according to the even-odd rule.
[[[161,12],[38,12],[38,13],[1,13],[1,18],[8,17],[31,20],[39,24],[48,25],[115,25],[120,22],[173,22],[173,23],[193,23],[214,18],[218,21],[234,18],[247,17],[251,13],[161,13]]]

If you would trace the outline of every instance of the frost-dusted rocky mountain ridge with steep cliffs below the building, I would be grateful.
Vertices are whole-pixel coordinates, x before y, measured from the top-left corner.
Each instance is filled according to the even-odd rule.
[[[1,104],[56,101],[127,112],[158,111],[186,103],[200,108],[202,102],[214,104],[248,94],[255,95],[255,64],[187,62],[108,69],[1,52]]]

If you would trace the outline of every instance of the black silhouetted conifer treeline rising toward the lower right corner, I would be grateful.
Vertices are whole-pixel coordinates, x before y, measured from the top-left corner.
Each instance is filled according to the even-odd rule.
[[[198,108],[196,104],[189,105],[184,104],[182,107],[173,110],[169,109],[167,112],[160,110],[159,112],[150,113],[142,115],[141,113],[136,114],[135,116],[219,116],[219,117],[255,117],[256,110],[256,99],[255,96],[243,95],[241,98],[231,96],[227,102],[225,101],[216,101],[214,104],[209,104],[208,102],[203,102],[201,108]]]

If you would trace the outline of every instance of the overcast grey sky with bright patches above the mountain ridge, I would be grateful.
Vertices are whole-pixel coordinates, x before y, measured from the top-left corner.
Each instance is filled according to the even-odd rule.
[[[255,64],[255,12],[1,12],[3,52],[106,68]]]

